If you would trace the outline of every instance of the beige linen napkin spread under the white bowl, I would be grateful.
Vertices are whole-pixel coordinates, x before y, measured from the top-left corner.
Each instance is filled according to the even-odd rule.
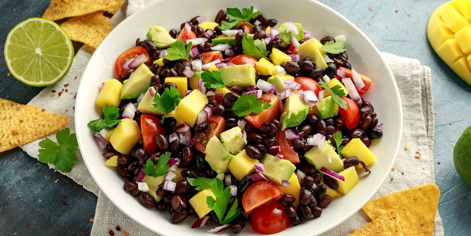
[[[125,16],[131,15],[150,2],[145,0],[129,0],[128,4],[125,2],[123,7],[112,17],[112,24],[114,26],[119,24]],[[71,132],[75,132],[73,120],[74,94],[77,91],[81,75],[91,54],[92,51],[88,47],[82,47],[75,55],[69,73],[59,83],[45,88],[28,103],[45,108],[50,112],[67,116],[69,118],[67,127],[71,129]],[[435,182],[432,155],[434,118],[430,68],[422,66],[416,59],[402,58],[389,53],[382,53],[382,57],[388,62],[399,87],[404,112],[404,130],[401,147],[407,145],[408,150],[400,148],[396,163],[394,164],[396,171],[390,172],[389,177],[374,195],[374,198],[409,187]],[[66,87],[68,93],[62,93],[60,97],[50,96],[52,90],[61,91],[65,89],[65,84],[68,84]],[[54,135],[50,135],[49,138],[56,141]],[[37,159],[39,154],[38,143],[39,140],[36,140],[21,146],[21,148]],[[414,158],[415,151],[422,154],[420,159]],[[114,229],[119,224],[122,231],[129,232],[132,236],[157,236],[157,234],[142,227],[116,208],[106,198],[105,194],[99,190],[97,184],[90,176],[80,153],[77,153],[77,156],[78,159],[72,171],[63,174],[71,177],[75,182],[83,185],[85,189],[98,195],[95,221],[91,235],[107,236],[108,231]],[[404,172],[404,175],[401,172]],[[391,178],[393,181],[390,181]],[[341,225],[323,234],[323,236],[348,235],[353,228],[363,227],[368,221],[363,211],[358,211]],[[438,212],[435,218],[433,235],[444,235],[443,225]]]

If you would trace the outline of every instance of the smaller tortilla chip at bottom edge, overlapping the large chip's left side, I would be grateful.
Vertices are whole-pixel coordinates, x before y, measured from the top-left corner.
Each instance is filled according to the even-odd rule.
[[[385,212],[363,228],[353,229],[353,233],[348,236],[403,236],[401,226],[399,225],[399,213],[395,210]]]

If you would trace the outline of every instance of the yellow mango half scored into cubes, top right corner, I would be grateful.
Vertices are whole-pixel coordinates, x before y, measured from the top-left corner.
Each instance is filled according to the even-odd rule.
[[[429,18],[427,37],[433,50],[471,85],[471,0],[452,0]]]

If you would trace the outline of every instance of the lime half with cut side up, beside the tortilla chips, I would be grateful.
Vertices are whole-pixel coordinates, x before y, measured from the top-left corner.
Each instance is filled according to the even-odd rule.
[[[55,84],[67,74],[73,61],[73,46],[55,22],[34,17],[8,33],[4,54],[16,79],[40,87]]]

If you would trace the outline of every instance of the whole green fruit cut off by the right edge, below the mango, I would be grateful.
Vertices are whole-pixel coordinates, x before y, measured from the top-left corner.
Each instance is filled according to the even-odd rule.
[[[456,141],[453,160],[456,172],[458,172],[464,183],[471,187],[471,126],[466,128]]]

